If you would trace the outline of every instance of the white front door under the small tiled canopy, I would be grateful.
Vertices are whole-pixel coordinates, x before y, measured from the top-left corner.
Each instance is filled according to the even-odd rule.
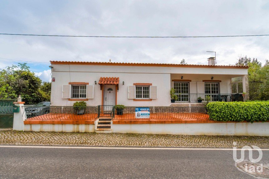
[[[115,105],[115,85],[105,85],[104,88],[104,105]],[[104,110],[112,110],[112,107],[105,107]]]

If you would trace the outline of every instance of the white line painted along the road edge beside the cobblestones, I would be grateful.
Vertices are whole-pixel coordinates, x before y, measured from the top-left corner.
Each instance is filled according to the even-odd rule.
[[[135,149],[135,150],[233,150],[232,148],[173,148],[173,147],[81,147],[81,146],[15,146],[15,145],[0,145],[1,147],[13,148],[67,148],[67,149]],[[241,150],[237,148],[236,150]],[[255,150],[255,149],[253,149]],[[269,149],[261,149],[269,151]]]

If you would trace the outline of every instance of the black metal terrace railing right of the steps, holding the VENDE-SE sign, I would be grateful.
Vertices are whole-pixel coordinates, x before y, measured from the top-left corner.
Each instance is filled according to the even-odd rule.
[[[123,107],[123,111],[119,112],[114,107],[114,120],[132,120],[137,119],[135,116],[136,107]],[[142,107],[143,108],[143,107]],[[206,107],[149,107],[149,120],[173,120],[173,119],[208,119]],[[140,118],[141,120],[143,118]]]

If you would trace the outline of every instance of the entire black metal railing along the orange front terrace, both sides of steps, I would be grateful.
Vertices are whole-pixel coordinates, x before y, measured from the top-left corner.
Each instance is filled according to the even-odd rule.
[[[99,117],[111,117],[115,120],[132,120],[135,108],[125,106],[118,109],[115,106],[99,105],[96,107],[67,106],[23,106],[24,115],[31,120],[96,120]],[[206,107],[149,107],[149,120],[173,119],[208,119]],[[121,111],[121,112],[119,112]]]

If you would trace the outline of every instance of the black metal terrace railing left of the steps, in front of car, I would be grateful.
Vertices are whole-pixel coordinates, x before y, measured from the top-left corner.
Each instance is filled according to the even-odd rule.
[[[96,107],[23,106],[27,119],[38,120],[91,120],[99,117]]]

